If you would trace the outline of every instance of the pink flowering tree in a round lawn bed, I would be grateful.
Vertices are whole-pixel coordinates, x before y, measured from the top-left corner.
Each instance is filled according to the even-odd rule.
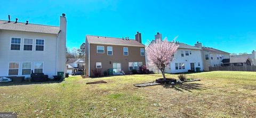
[[[177,36],[178,37],[178,36]],[[175,37],[174,40],[177,38]],[[154,66],[159,69],[164,80],[165,78],[165,67],[174,60],[174,54],[177,52],[178,45],[173,42],[167,41],[165,38],[163,41],[161,39],[156,39],[146,46],[146,55],[149,66]]]

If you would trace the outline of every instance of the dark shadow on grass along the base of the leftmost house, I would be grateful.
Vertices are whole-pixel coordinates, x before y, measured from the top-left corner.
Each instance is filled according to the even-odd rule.
[[[18,86],[18,85],[37,85],[37,84],[49,84],[49,83],[61,83],[62,81],[65,80],[60,80],[60,81],[44,81],[44,82],[29,82],[29,81],[22,81],[22,82],[1,82],[1,86]]]

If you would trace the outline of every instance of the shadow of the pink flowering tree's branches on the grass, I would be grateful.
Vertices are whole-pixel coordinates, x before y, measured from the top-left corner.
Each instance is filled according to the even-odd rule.
[[[201,83],[183,83],[183,84],[179,84],[179,85],[162,85],[164,88],[174,88],[175,90],[184,92],[184,90],[192,92],[191,90],[206,90],[206,89],[210,89],[207,87],[202,87],[203,84]]]

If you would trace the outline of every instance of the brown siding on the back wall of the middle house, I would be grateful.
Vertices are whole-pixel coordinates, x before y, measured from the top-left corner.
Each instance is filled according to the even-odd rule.
[[[105,53],[97,53],[97,46],[104,46]],[[102,64],[102,73],[110,68],[113,68],[113,63],[121,63],[122,70],[129,73],[129,62],[142,62],[145,63],[145,56],[140,55],[141,47],[131,46],[113,46],[113,55],[107,55],[107,46],[113,45],[98,45],[90,44],[90,75],[93,76],[92,70],[95,69],[97,62]],[[123,47],[128,47],[129,55],[124,56]],[[110,64],[111,62],[111,64]]]

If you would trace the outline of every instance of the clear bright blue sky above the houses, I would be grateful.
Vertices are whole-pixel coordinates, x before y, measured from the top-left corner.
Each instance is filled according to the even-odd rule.
[[[142,43],[156,32],[172,40],[225,50],[256,50],[256,1],[1,1],[0,19],[59,26],[66,13],[67,46],[79,47],[85,35],[129,37]]]

